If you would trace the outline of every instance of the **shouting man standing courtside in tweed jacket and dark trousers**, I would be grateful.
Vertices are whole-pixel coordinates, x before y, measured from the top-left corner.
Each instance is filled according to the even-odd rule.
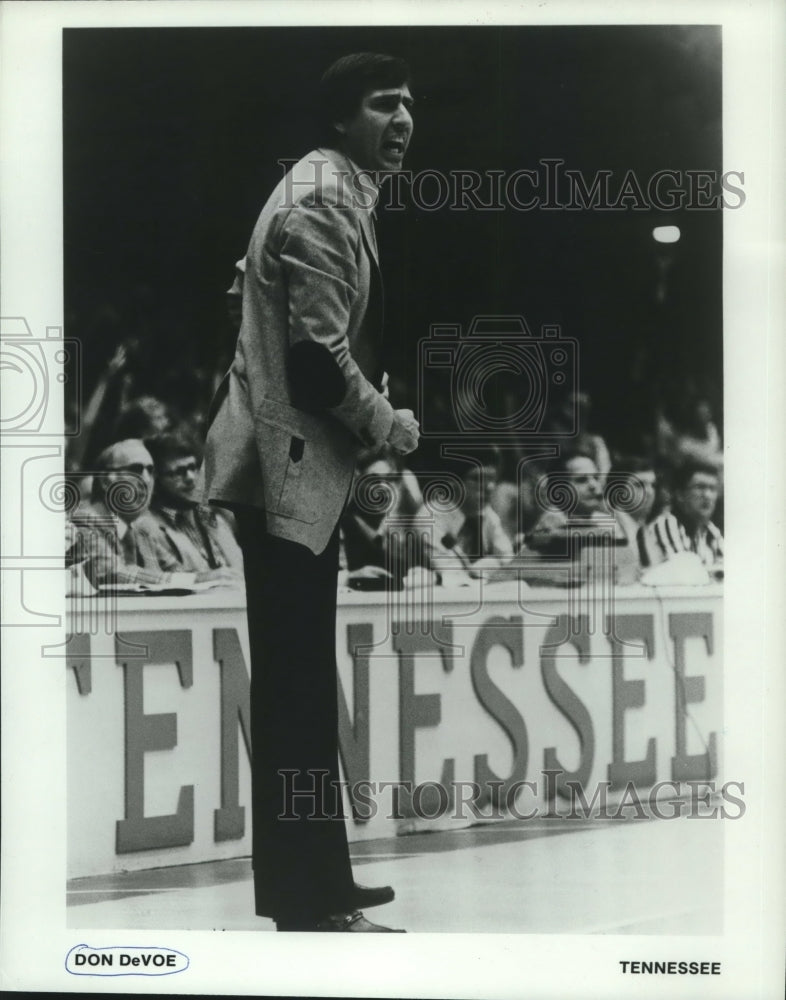
[[[380,931],[393,897],[352,877],[338,789],[338,522],[355,459],[418,425],[383,389],[371,172],[400,169],[408,69],[346,56],[321,83],[332,140],[300,160],[257,221],[236,287],[241,324],[211,407],[205,496],[235,510],[251,648],[256,912],[279,930]]]

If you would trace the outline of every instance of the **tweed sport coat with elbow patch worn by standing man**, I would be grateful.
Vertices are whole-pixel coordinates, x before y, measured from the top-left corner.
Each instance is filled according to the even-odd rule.
[[[361,448],[384,442],[376,191],[317,149],[285,175],[245,258],[235,358],[211,404],[205,500],[264,509],[267,530],[322,552]]]

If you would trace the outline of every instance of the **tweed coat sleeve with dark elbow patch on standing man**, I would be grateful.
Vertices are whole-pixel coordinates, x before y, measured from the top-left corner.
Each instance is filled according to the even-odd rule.
[[[347,336],[358,294],[356,222],[347,208],[299,203],[284,223],[281,265],[293,381],[312,407],[328,410],[374,446],[387,439],[393,408],[360,370]]]

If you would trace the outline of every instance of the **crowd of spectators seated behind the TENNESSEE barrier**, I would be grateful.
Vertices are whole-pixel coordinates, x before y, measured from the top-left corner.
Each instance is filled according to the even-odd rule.
[[[67,452],[72,593],[242,584],[232,514],[198,496],[205,416],[228,359],[211,369],[173,355],[151,379],[143,362],[154,347],[121,342],[82,402]],[[597,432],[589,396],[574,390],[550,399],[544,416],[543,441],[556,448],[508,435],[504,447],[468,448],[462,460],[443,458],[433,441],[409,464],[385,449],[361,454],[340,583],[575,582],[588,553],[620,583],[720,578],[721,435],[687,377],[674,398],[655,408],[633,452]],[[451,400],[428,403],[444,412]]]

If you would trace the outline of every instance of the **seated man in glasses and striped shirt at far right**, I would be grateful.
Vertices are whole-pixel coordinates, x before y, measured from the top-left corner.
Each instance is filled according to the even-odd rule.
[[[685,552],[699,557],[708,572],[723,574],[723,535],[712,515],[720,493],[714,464],[686,462],[674,470],[672,511],[664,512],[644,535],[646,565],[657,566]]]

